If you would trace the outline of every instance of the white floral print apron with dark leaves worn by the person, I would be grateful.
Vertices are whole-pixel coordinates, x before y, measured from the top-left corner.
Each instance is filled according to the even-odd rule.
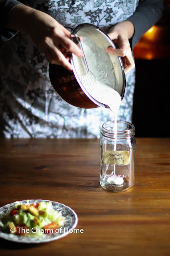
[[[91,23],[106,32],[131,16],[137,0],[21,1],[41,10],[70,31]],[[0,136],[95,138],[102,124],[114,120],[110,109],[80,109],[53,91],[44,54],[26,34],[0,45]],[[3,64],[2,64],[3,63]],[[126,91],[118,120],[132,121],[135,71],[126,75]]]

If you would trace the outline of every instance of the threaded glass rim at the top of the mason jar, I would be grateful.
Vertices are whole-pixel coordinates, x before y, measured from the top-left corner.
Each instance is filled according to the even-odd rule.
[[[117,136],[120,136],[120,135],[123,135],[123,136],[126,136],[126,137],[134,136],[135,127],[132,123],[129,123],[127,121],[117,121],[117,128],[122,128],[122,130],[113,131],[110,128],[113,127],[114,123],[115,123],[115,121],[108,121],[106,123],[103,123],[101,133],[104,136],[108,136],[108,137],[115,137],[115,136],[117,137]],[[127,128],[123,127],[123,126],[119,126],[121,124],[127,126]],[[107,129],[107,127],[109,127],[109,129]]]

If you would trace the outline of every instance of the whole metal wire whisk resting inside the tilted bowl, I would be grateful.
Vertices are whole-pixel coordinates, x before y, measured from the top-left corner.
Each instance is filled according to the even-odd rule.
[[[80,38],[76,34],[70,34],[70,38],[83,51]],[[97,89],[99,82],[95,77],[95,75],[93,75],[93,73],[89,71],[84,51],[83,51],[83,56],[78,57],[78,59],[79,59],[79,71],[77,71],[78,72],[77,75],[79,76],[81,83],[83,84],[83,86],[87,91],[95,91]]]

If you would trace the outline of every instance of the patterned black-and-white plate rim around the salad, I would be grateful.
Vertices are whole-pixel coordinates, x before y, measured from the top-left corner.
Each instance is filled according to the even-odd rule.
[[[58,233],[54,232],[51,234],[43,234],[40,237],[28,237],[28,236],[16,236],[14,234],[8,234],[2,232],[0,230],[0,238],[4,238],[6,240],[12,241],[12,242],[18,242],[18,243],[27,243],[27,244],[38,244],[38,243],[44,243],[44,242],[50,242],[53,240],[57,240],[59,238],[62,238],[64,236],[67,236],[71,232],[70,230],[73,230],[77,226],[78,218],[77,214],[68,206],[65,206],[64,204],[60,204],[57,202],[52,202],[49,200],[29,200],[29,204],[34,203],[40,203],[40,202],[51,202],[52,203],[52,209],[61,212],[62,216],[65,217],[65,224],[62,227],[61,230],[59,230]],[[21,204],[27,204],[27,200],[20,201]],[[0,216],[2,216],[9,208],[14,208],[16,202],[12,204],[7,204],[6,206],[3,206],[0,208]]]

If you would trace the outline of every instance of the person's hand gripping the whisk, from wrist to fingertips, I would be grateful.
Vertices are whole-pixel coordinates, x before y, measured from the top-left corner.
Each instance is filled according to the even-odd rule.
[[[83,53],[70,39],[70,32],[51,16],[37,10],[34,11],[30,24],[31,29],[28,30],[28,34],[45,54],[47,60],[52,64],[62,65],[72,70],[69,52],[77,56],[82,56]]]

